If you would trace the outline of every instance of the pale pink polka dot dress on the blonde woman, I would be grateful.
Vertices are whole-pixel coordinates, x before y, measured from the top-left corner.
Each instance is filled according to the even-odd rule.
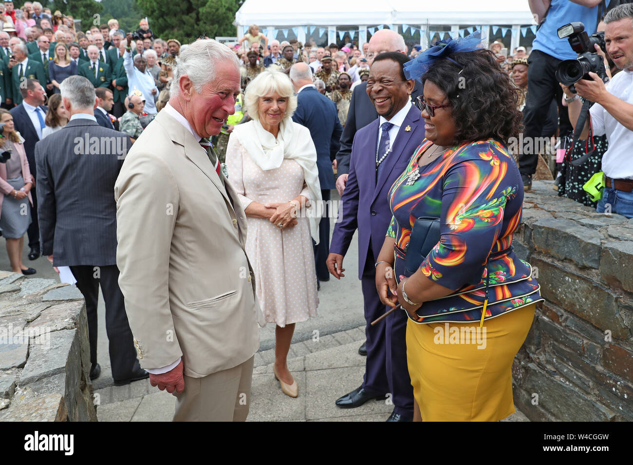
[[[292,159],[284,159],[275,170],[262,170],[249,156],[237,137],[227,146],[229,182],[242,201],[268,204],[288,202],[299,194],[309,201],[303,168]],[[284,327],[316,316],[315,259],[307,217],[281,230],[264,218],[248,216],[246,254],[255,272],[257,297],[266,322]]]

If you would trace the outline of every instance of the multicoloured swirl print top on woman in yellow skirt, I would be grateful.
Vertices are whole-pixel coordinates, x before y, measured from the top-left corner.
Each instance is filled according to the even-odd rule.
[[[544,300],[530,264],[511,247],[521,222],[523,184],[508,148],[493,139],[479,140],[418,166],[431,144],[422,141],[389,190],[393,218],[387,235],[396,240],[396,276],[407,276],[404,254],[415,219],[440,218],[441,239],[420,268],[427,278],[455,292],[424,302],[413,321],[479,321],[487,270],[491,275],[484,318]]]

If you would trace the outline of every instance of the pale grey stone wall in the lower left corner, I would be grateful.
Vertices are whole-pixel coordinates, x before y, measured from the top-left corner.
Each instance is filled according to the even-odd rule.
[[[97,421],[84,297],[0,271],[0,421]]]

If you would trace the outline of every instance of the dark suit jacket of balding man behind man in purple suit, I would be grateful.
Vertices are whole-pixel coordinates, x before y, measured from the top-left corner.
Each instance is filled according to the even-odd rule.
[[[417,96],[422,95],[422,84],[415,82],[411,98],[415,102]],[[360,128],[367,126],[378,118],[378,113],[367,95],[367,83],[358,84],[352,92],[349,102],[348,121],[345,123],[341,135],[341,149],[336,154],[337,173],[339,175],[349,173],[349,156],[352,152],[354,135]]]

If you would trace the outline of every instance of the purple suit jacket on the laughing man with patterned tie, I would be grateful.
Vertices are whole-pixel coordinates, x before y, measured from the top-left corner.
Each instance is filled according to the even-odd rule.
[[[389,189],[406,169],[413,152],[424,139],[424,120],[417,106],[411,106],[393,143],[392,151],[382,162],[376,182],[376,147],[380,118],[376,118],[354,135],[349,160],[349,177],[341,197],[339,222],[334,226],[330,253],[345,255],[358,229],[358,278],[365,269],[367,252],[372,247],[377,257],[391,223]],[[406,130],[410,127],[410,130]]]

